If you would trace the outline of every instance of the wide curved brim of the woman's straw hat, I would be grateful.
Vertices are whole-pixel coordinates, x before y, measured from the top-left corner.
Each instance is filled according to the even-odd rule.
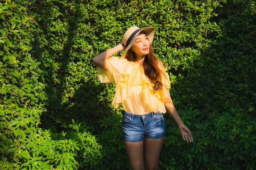
[[[141,32],[144,32],[147,35],[150,44],[153,42],[154,35],[155,35],[155,27],[146,27],[144,29],[141,29],[138,33],[136,33],[134,35],[134,37],[132,38],[130,44],[126,47],[126,49],[124,50],[124,53],[121,55],[121,58],[125,58],[126,57],[127,51],[132,47],[132,44],[135,42],[137,36]]]

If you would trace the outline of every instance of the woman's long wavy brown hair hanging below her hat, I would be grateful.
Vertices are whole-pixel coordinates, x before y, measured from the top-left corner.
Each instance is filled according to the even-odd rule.
[[[127,51],[126,59],[131,62],[136,61],[136,55],[131,49]],[[153,54],[152,46],[150,45],[149,53],[145,55],[142,66],[144,68],[145,75],[154,84],[154,91],[162,89],[163,86],[161,81],[162,71],[159,69],[157,61],[157,57]]]

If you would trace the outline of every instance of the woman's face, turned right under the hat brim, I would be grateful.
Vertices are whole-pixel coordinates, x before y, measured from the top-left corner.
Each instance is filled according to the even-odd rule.
[[[135,53],[136,57],[142,57],[149,53],[150,42],[145,33],[141,32],[132,44],[131,50]]]

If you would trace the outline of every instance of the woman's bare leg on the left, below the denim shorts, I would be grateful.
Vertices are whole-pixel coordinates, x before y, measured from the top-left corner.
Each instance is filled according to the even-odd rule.
[[[143,160],[143,141],[124,141],[126,152],[129,158],[131,170],[145,170]]]

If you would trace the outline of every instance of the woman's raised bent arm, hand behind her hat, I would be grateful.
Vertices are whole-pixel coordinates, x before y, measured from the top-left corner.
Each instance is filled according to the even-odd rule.
[[[112,49],[104,51],[104,52],[100,53],[99,55],[97,55],[96,57],[93,57],[92,62],[96,66],[99,66],[100,68],[107,70],[108,66],[107,66],[106,60],[113,54],[117,53],[118,51],[124,50],[124,49],[125,49],[124,44],[120,43],[117,46],[113,47]]]

